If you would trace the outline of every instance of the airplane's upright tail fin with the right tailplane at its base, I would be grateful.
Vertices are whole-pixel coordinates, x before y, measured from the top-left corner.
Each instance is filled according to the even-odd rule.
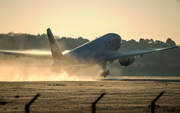
[[[56,40],[55,40],[50,28],[47,29],[47,35],[48,35],[48,39],[49,39],[49,43],[50,43],[50,47],[51,47],[51,53],[52,53],[53,61],[57,62],[59,60],[65,60],[65,61],[69,62],[70,64],[76,64],[69,57],[63,56],[61,50],[59,49],[58,44],[56,43]]]

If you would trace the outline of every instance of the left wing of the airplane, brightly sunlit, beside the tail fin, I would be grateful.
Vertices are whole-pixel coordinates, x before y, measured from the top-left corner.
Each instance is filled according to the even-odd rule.
[[[13,55],[15,57],[25,56],[37,59],[52,59],[51,52],[45,50],[0,50],[0,53]]]

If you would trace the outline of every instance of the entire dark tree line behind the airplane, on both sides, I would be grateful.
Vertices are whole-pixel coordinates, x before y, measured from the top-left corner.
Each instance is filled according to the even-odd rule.
[[[78,37],[59,37],[55,36],[57,43],[61,49],[71,50],[75,47],[89,42],[88,39]],[[176,45],[175,42],[167,38],[166,42],[153,39],[122,40],[119,51],[141,50],[147,48],[163,48]],[[27,49],[43,49],[50,50],[49,41],[46,34],[25,34],[13,33],[0,34],[1,50],[27,50]],[[118,60],[114,63],[108,63],[107,67],[111,71],[111,75],[160,75],[160,76],[179,76],[180,75],[180,48],[155,52],[135,57],[135,62],[127,67],[119,64]]]

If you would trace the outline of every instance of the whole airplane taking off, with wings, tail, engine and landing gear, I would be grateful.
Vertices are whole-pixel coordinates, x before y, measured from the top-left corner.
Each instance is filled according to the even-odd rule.
[[[122,66],[131,65],[135,61],[135,56],[143,56],[144,54],[169,50],[177,48],[177,46],[146,49],[146,50],[133,50],[118,52],[121,47],[121,37],[116,33],[108,33],[90,42],[87,42],[77,48],[62,53],[50,28],[47,29],[47,35],[50,43],[50,52],[46,51],[15,51],[15,50],[0,50],[0,53],[10,54],[34,58],[53,59],[53,62],[48,67],[51,67],[54,72],[61,72],[61,69],[66,70],[68,73],[75,73],[76,71],[84,68],[89,68],[96,64],[102,67],[101,76],[106,77],[109,70],[106,69],[107,62],[113,63],[114,60],[119,60]]]

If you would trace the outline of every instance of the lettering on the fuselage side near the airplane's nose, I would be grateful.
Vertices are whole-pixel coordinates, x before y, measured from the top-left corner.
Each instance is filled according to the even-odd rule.
[[[119,38],[114,38],[113,40],[110,40],[108,42],[106,42],[106,41],[104,42],[104,44],[106,45],[107,49],[116,47],[117,45],[119,45],[119,43],[120,43]]]

